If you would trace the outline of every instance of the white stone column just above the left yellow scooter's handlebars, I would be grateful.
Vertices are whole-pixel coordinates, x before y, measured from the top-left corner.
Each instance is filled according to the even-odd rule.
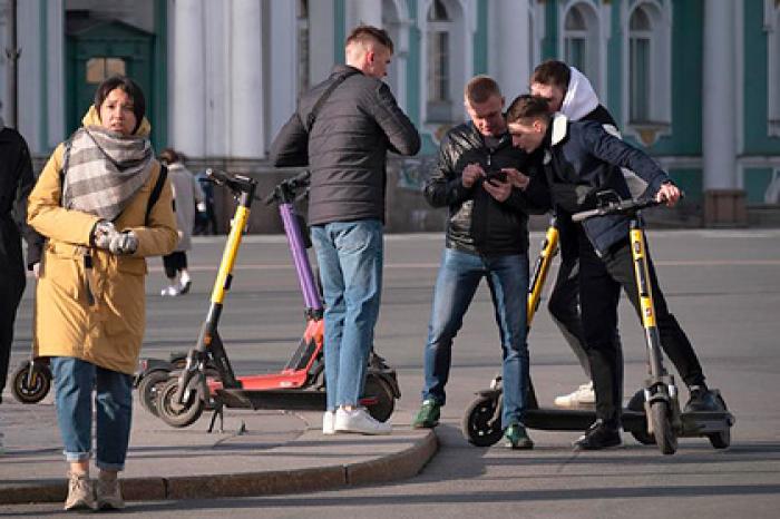
[[[233,158],[264,155],[262,14],[259,0],[233,0],[228,89],[230,154]]]

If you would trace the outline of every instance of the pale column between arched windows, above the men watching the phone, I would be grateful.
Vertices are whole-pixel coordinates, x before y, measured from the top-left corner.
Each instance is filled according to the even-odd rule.
[[[495,0],[490,14],[488,56],[490,75],[498,81],[507,102],[528,91],[530,47],[528,0]]]

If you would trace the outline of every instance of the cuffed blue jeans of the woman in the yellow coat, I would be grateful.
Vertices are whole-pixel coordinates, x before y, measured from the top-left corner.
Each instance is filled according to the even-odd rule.
[[[51,359],[57,422],[67,461],[88,460],[92,447],[92,390],[97,407],[97,466],[123,470],[130,440],[133,378],[70,356]]]

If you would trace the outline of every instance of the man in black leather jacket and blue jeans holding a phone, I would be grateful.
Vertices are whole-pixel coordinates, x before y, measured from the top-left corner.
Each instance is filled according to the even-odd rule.
[[[471,119],[449,130],[439,160],[425,186],[433,207],[448,207],[447,238],[433,292],[425,350],[422,407],[415,428],[438,424],[445,404],[452,339],[482,278],[487,278],[504,358],[501,424],[506,444],[530,449],[523,425],[528,388],[526,300],[528,293],[527,194],[519,173],[526,155],[514,149],[504,119],[504,97],[495,80],[477,76],[466,86],[465,105]],[[533,184],[533,183],[532,183]]]

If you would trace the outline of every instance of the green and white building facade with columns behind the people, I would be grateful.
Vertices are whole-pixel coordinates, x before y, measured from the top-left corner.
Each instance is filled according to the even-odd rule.
[[[744,218],[780,176],[780,0],[18,0],[18,128],[45,158],[119,71],[147,92],[157,148],[262,175],[299,94],[343,62],[360,22],[393,38],[387,81],[423,134],[421,156],[391,167],[402,199],[466,117],[471,76],[494,76],[509,101],[548,58],[591,78],[710,222]]]

